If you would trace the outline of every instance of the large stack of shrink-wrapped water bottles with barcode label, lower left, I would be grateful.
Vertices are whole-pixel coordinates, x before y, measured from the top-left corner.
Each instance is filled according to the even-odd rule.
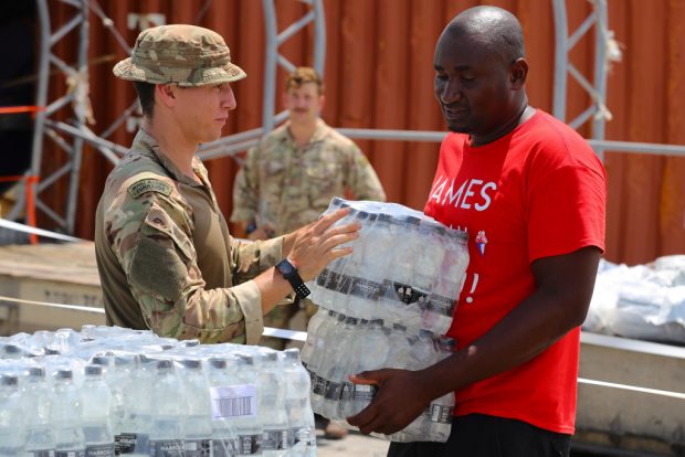
[[[149,331],[0,338],[0,456],[314,456],[299,351]]]

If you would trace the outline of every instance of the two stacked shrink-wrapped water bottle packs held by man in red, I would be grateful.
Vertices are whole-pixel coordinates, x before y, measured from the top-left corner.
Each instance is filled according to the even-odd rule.
[[[447,357],[452,325],[468,264],[466,233],[394,203],[334,198],[327,212],[350,208],[338,224],[357,221],[352,254],[308,283],[319,311],[309,320],[302,359],[312,379],[315,413],[349,426],[376,387],[350,374],[381,368],[421,370]],[[344,351],[340,351],[344,348]],[[444,442],[454,398],[438,398],[396,442]]]

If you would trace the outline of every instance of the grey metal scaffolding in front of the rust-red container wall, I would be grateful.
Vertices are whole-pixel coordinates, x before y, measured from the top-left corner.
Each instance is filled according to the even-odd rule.
[[[35,0],[38,4],[38,17],[40,25],[40,55],[39,55],[39,84],[36,103],[39,107],[45,107],[38,111],[35,116],[35,130],[33,137],[33,151],[31,170],[23,179],[27,193],[22,194],[7,219],[17,220],[19,213],[27,204],[25,194],[31,191],[35,195],[35,208],[50,216],[59,226],[59,230],[68,234],[74,232],[74,222],[77,206],[78,182],[81,172],[81,160],[83,145],[87,142],[98,150],[105,158],[116,163],[120,156],[127,151],[127,147],[114,144],[107,138],[124,123],[135,121],[133,115],[138,110],[137,100],[117,118],[108,128],[98,136],[86,126],[88,114],[88,13],[92,11],[99,17],[103,24],[114,34],[119,45],[130,53],[130,47],[114,26],[113,21],[107,18],[97,4],[97,0]],[[274,0],[262,0],[264,23],[265,23],[265,71],[264,71],[264,99],[262,105],[262,127],[222,137],[217,141],[203,145],[198,152],[202,160],[210,160],[221,157],[234,156],[255,145],[259,139],[271,131],[274,126],[282,123],[287,113],[275,113],[276,94],[276,71],[278,65],[287,71],[295,67],[278,50],[288,39],[304,30],[308,24],[313,24],[314,34],[314,67],[323,74],[326,51],[326,29],[324,17],[323,0],[292,0],[306,6],[307,12],[303,18],[295,21],[284,30],[277,30],[277,11]],[[592,136],[589,139],[594,150],[602,156],[605,150],[618,150],[625,152],[677,155],[685,156],[685,146],[635,144],[629,141],[607,141],[604,140],[604,125],[611,118],[611,113],[605,106],[607,95],[607,65],[618,53],[615,42],[612,40],[612,32],[608,26],[607,14],[608,0],[592,0],[593,11],[581,23],[581,25],[569,35],[567,23],[566,0],[551,0],[555,18],[556,34],[556,60],[555,60],[555,94],[552,114],[561,120],[566,120],[566,99],[568,91],[568,75],[570,74],[588,92],[591,98],[591,106],[578,117],[572,119],[569,125],[578,128],[592,118]],[[73,17],[60,29],[53,31],[50,21],[49,2],[61,2],[70,6]],[[155,18],[141,18],[141,26],[148,26],[148,20]],[[157,18],[157,20],[159,20]],[[578,41],[594,26],[594,75],[591,78],[584,77],[570,62],[569,52]],[[52,49],[70,32],[78,31],[78,47],[76,63],[72,66],[57,57]],[[613,45],[612,45],[613,44]],[[54,66],[57,71],[65,74],[68,83],[68,91],[53,102],[49,102],[49,78],[50,68]],[[55,114],[63,107],[70,106],[73,116],[68,123],[60,121]],[[383,129],[339,129],[340,132],[350,138],[376,139],[376,140],[405,140],[405,141],[441,141],[444,131],[418,131],[418,130],[383,130]],[[64,136],[71,141],[67,141]],[[46,177],[41,177],[43,160],[43,138],[48,137],[54,141],[67,156],[66,163]],[[70,185],[67,201],[65,202],[65,214],[60,215],[49,208],[40,198],[48,188],[53,185],[60,178],[70,174]]]

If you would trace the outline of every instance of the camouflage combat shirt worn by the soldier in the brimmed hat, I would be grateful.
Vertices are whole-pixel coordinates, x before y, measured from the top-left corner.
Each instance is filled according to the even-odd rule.
[[[203,343],[256,343],[261,296],[250,280],[281,259],[283,240],[239,243],[219,210],[207,169],[185,176],[139,130],[107,178],[95,249],[108,325]]]

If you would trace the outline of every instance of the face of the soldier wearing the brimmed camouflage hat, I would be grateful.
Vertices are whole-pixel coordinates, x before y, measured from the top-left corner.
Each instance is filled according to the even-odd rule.
[[[235,109],[235,96],[228,83],[200,87],[177,87],[178,125],[192,142],[209,142],[221,138],[221,129]]]

